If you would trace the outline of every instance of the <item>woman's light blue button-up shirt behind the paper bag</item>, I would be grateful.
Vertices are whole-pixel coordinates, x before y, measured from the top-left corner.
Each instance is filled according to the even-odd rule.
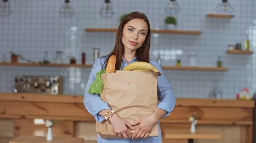
[[[98,58],[95,60],[95,62],[93,63],[92,70],[90,72],[90,76],[89,76],[89,79],[87,82],[87,86],[85,88],[85,92],[84,92],[84,106],[87,109],[87,111],[90,114],[92,114],[94,116],[95,120],[98,122],[102,122],[105,120],[105,118],[98,115],[98,113],[104,109],[110,109],[110,107],[108,106],[108,104],[106,102],[103,102],[99,96],[87,93],[87,90],[89,89],[92,82],[95,80],[96,73],[99,70],[102,70],[102,66],[103,66],[104,62],[105,62],[104,58]],[[130,63],[132,63],[132,62],[137,62],[136,58],[134,58]],[[128,65],[125,62],[125,59],[123,59],[122,63],[123,63],[123,68]],[[174,109],[174,107],[175,107],[175,104],[176,104],[175,96],[171,90],[171,85],[169,84],[168,79],[166,79],[166,76],[163,73],[163,70],[162,70],[160,64],[158,64],[155,60],[152,60],[152,59],[149,59],[149,63],[156,66],[157,69],[160,72],[162,72],[161,76],[157,76],[157,98],[160,101],[157,104],[157,108],[160,108],[160,109],[163,109],[166,111],[166,115],[164,115],[162,117],[162,118],[165,118],[166,116],[168,116],[170,114],[172,109]],[[160,126],[159,126],[159,131],[160,131]],[[161,131],[160,131],[159,135],[161,135]],[[161,137],[161,136],[159,136],[159,137]],[[157,138],[159,138],[159,137],[157,137]],[[149,138],[149,137],[147,137],[147,138]],[[119,143],[132,143],[132,142],[120,142],[122,139],[108,139],[108,140],[110,140],[110,143],[114,143],[113,142],[114,140],[119,141]],[[131,140],[131,139],[128,139],[128,140]],[[135,140],[135,139],[133,139],[133,140]],[[143,139],[140,139],[140,140],[143,140]],[[159,138],[157,140],[161,140],[161,139]],[[145,139],[143,141],[145,141]],[[103,143],[103,142],[108,143],[107,140],[105,140],[105,141],[101,140],[101,142],[99,142],[99,135],[98,135],[98,143]],[[136,142],[136,143],[139,143],[139,142]],[[151,141],[147,142],[147,143],[151,143]],[[157,141],[154,143],[160,143],[160,142]]]

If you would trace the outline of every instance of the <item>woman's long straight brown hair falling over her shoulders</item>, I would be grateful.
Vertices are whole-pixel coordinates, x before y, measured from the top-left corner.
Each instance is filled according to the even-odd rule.
[[[140,62],[148,62],[149,63],[149,48],[150,48],[150,36],[151,36],[150,24],[149,24],[148,18],[145,16],[145,14],[140,13],[138,11],[134,11],[134,12],[127,14],[125,17],[123,17],[122,21],[120,22],[120,25],[116,32],[115,47],[111,51],[111,53],[109,53],[107,56],[104,56],[106,60],[105,60],[105,63],[103,64],[102,68],[104,68],[104,69],[106,68],[106,63],[108,62],[108,59],[111,55],[116,55],[115,69],[116,70],[122,69],[121,68],[122,55],[125,51],[125,49],[124,49],[125,47],[122,43],[122,31],[123,31],[124,25],[133,19],[142,19],[148,25],[148,34],[145,38],[145,47],[140,47],[136,50],[136,59],[137,59],[137,61],[140,61]]]

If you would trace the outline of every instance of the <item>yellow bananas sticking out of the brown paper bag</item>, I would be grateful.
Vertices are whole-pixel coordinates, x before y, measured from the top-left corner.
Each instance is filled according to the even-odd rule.
[[[154,65],[147,62],[133,62],[128,64],[123,70],[134,71],[134,70],[147,70],[157,73],[157,76],[161,76],[162,73]]]

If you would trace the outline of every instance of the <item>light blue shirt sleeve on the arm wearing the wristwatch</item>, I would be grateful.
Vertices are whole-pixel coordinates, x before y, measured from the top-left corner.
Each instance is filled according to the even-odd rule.
[[[103,102],[102,99],[99,97],[99,94],[90,94],[87,93],[90,85],[96,78],[96,73],[101,70],[101,60],[98,58],[93,63],[92,70],[90,72],[90,76],[87,82],[87,85],[85,87],[84,92],[84,106],[87,109],[87,111],[94,116],[96,121],[102,122],[105,120],[102,116],[100,116],[98,113],[101,112],[104,109],[111,109],[106,102]]]

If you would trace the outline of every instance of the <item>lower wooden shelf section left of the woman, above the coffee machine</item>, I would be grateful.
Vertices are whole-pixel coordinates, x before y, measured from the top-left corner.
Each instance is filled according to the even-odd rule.
[[[37,63],[0,63],[0,66],[10,67],[92,67],[88,64],[37,64]]]

